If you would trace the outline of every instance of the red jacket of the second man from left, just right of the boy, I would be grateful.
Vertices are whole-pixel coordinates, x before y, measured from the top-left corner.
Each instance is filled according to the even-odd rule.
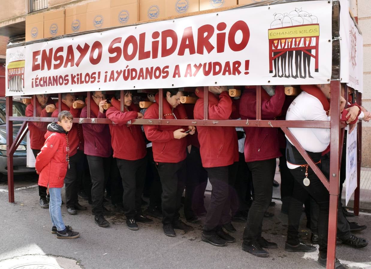
[[[56,110],[53,111],[52,117],[58,118],[58,102],[56,104]],[[67,110],[71,112],[73,118],[80,117],[80,109],[69,108],[65,103],[62,103],[61,111]],[[72,157],[77,153],[77,150],[80,149],[84,151],[84,135],[82,131],[81,124],[76,122],[73,123],[72,129],[68,132],[68,139],[69,139],[69,156]]]

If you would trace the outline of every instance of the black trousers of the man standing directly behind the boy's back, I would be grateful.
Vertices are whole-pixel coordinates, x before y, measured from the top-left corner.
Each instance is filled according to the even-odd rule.
[[[65,176],[66,187],[66,206],[67,208],[75,206],[78,202],[77,193],[79,191],[78,182],[83,176],[84,152],[77,150],[76,154],[69,158],[69,169]]]

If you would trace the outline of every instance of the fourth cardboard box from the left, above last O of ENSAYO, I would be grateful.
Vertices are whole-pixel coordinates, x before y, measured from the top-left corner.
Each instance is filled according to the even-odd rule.
[[[111,27],[111,2],[100,0],[88,3],[86,30]]]

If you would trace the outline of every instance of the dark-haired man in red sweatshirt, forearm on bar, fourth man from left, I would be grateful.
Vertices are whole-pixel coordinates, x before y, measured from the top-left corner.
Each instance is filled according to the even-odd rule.
[[[142,213],[142,192],[147,171],[146,145],[140,125],[132,125],[131,120],[143,118],[138,107],[132,103],[131,91],[124,91],[124,100],[120,92],[112,98],[112,107],[106,111],[106,117],[114,124],[109,125],[112,136],[114,158],[120,170],[124,188],[124,213],[130,230],[138,230],[137,222],[153,223]],[[124,112],[120,111],[124,102]]]

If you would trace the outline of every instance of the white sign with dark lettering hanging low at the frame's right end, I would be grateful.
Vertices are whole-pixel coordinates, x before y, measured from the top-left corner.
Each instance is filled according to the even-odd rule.
[[[345,205],[357,188],[357,125],[347,135],[347,177],[345,178]]]

